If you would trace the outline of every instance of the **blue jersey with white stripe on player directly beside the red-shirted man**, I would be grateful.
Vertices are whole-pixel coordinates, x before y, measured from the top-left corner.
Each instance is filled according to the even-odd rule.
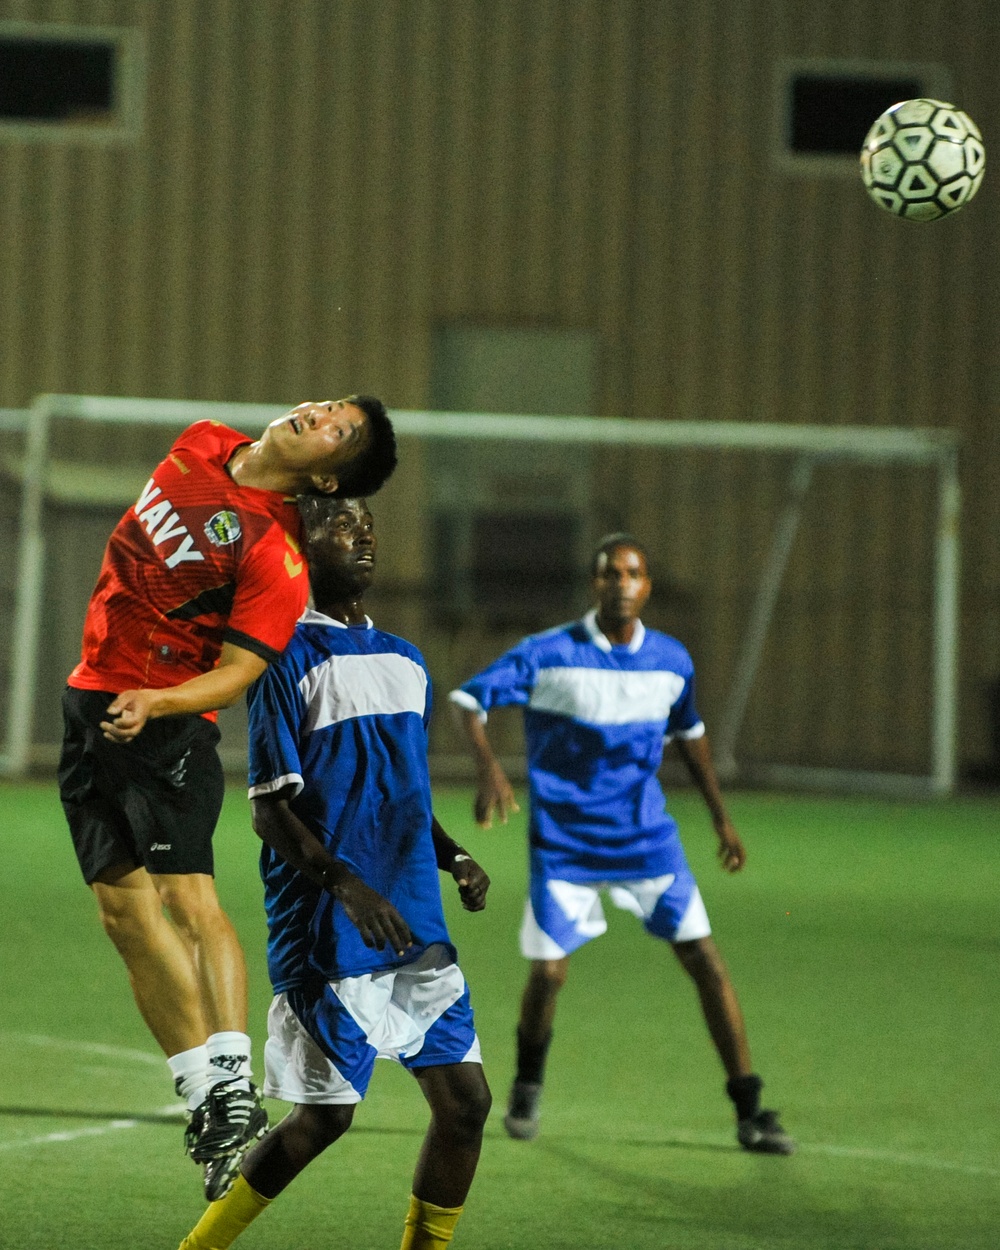
[[[409,964],[454,948],[431,838],[430,678],[418,649],[308,610],[281,659],[248,691],[250,798],[294,788],[289,806],[336,859],[396,908],[404,956],[372,950],[329,891],[270,846],[260,855],[275,992]]]

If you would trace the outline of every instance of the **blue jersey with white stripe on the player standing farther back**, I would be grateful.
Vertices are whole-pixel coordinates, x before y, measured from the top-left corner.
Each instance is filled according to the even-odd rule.
[[[614,645],[590,611],[522,639],[450,698],[482,720],[524,708],[532,869],[565,881],[672,871],[678,826],[656,771],[665,740],[705,732],[676,639],[636,621]]]

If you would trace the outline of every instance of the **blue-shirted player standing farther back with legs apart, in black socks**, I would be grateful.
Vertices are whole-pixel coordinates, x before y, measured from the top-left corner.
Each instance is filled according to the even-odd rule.
[[[522,639],[451,692],[476,760],[476,820],[516,810],[486,736],[494,708],[524,709],[530,788],[530,892],[521,952],[531,971],[518,1022],[518,1071],[504,1120],[521,1140],[539,1130],[545,1059],[569,960],[606,929],[601,894],[672,945],[694,979],[726,1071],[736,1135],[746,1150],[790,1154],[775,1111],[762,1110],[742,1012],[658,770],[672,741],[711,812],[719,859],[745,862],[726,814],[681,644],[645,629],[652,584],[646,551],[628,534],[599,545],[591,569],[596,609],[582,620]]]

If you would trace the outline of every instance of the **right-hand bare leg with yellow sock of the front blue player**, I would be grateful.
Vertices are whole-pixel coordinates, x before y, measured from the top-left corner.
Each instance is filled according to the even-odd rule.
[[[492,1098],[480,1064],[415,1071],[431,1120],[414,1172],[401,1250],[448,1245],[461,1215],[482,1149]]]

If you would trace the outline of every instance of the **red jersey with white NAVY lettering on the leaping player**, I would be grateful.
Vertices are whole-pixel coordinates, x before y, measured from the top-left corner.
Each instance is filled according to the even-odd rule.
[[[189,426],[108,541],[69,676],[82,690],[175,686],[215,666],[222,642],[269,662],[309,596],[294,499],[238,486],[226,464],[251,442]]]

